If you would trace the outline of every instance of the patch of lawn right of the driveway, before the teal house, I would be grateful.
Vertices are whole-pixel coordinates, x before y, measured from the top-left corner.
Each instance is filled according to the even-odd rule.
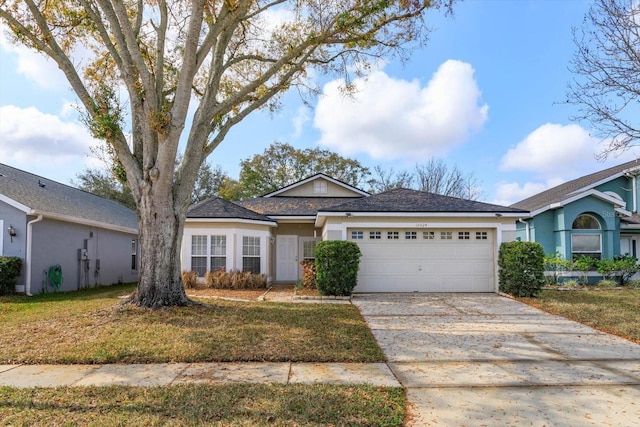
[[[640,290],[545,290],[521,301],[640,343]]]

